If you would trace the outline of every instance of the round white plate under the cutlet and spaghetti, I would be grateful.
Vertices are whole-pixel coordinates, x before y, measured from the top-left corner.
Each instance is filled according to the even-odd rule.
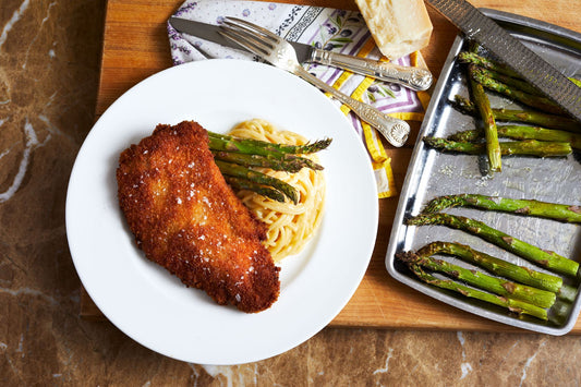
[[[195,120],[215,132],[263,118],[310,140],[327,180],[317,235],[281,263],[278,301],[257,314],[215,304],[136,249],[117,201],[119,154],[158,123]],[[273,66],[208,60],[165,70],[119,98],[83,144],[69,183],[66,233],[81,280],[119,329],[165,355],[239,364],[282,353],[324,328],[367,268],[377,231],[377,193],[359,136],[319,90]]]

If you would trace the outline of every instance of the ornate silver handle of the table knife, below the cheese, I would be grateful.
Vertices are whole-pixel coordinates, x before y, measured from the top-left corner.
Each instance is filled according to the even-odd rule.
[[[375,77],[385,82],[392,82],[420,92],[429,88],[433,82],[432,73],[424,69],[403,66],[390,62],[380,62],[360,57],[346,56],[338,52],[314,48],[311,61],[342,68],[354,73]]]

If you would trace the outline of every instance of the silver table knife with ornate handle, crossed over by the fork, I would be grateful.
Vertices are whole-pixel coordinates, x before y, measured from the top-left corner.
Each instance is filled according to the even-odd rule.
[[[241,46],[220,35],[220,27],[218,25],[175,16],[171,16],[169,22],[178,32],[196,36],[201,39],[209,40],[221,46],[244,50]],[[397,83],[413,90],[425,90],[429,88],[433,82],[432,73],[424,69],[346,56],[339,52],[322,50],[296,41],[289,43],[296,51],[296,57],[301,63],[314,62],[341,68],[384,82]]]

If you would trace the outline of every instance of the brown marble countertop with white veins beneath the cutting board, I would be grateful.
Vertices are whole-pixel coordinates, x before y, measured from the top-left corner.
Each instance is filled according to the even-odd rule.
[[[0,385],[579,384],[579,336],[325,328],[271,359],[204,366],[81,318],[64,202],[95,119],[105,10],[0,4]]]

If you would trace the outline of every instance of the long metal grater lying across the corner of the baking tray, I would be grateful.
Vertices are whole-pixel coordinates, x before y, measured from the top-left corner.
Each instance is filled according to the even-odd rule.
[[[581,87],[574,85],[468,1],[426,0],[426,2],[460,28],[469,39],[481,44],[581,122]]]

